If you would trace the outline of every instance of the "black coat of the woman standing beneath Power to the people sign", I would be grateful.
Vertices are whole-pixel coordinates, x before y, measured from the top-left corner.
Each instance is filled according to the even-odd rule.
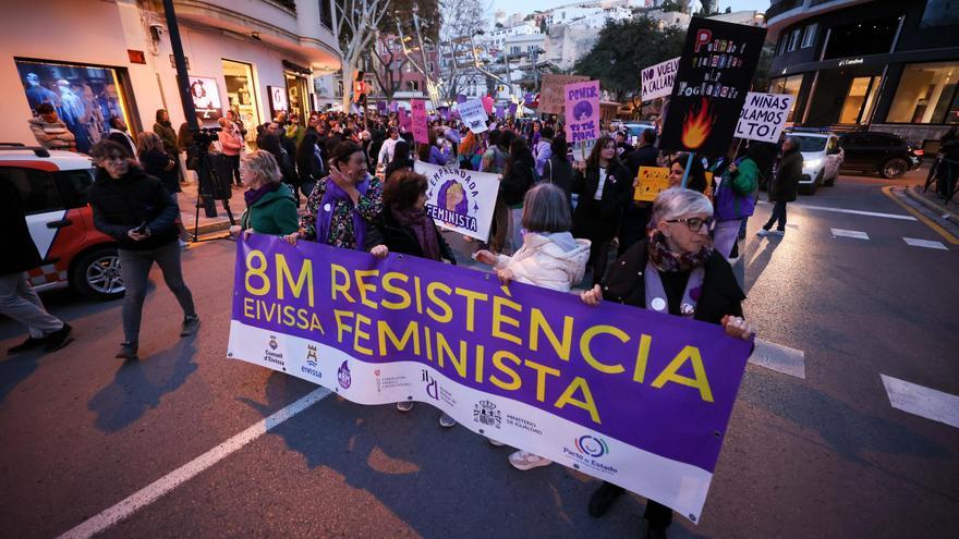
[[[600,200],[593,198],[599,187],[599,169],[588,168],[585,174],[573,172],[573,193],[580,195],[573,211],[575,237],[596,241],[611,240],[616,235],[622,208],[633,197],[633,180],[618,160],[610,161],[606,172]]]

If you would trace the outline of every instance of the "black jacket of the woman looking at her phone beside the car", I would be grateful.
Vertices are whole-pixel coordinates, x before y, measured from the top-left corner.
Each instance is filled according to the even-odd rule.
[[[138,167],[131,166],[118,180],[98,171],[88,197],[94,226],[117,240],[121,249],[149,250],[177,240],[174,222],[180,208],[160,181]],[[150,231],[148,238],[135,242],[126,235],[144,222]]]

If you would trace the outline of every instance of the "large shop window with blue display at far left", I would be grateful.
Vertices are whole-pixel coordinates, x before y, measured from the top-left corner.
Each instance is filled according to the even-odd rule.
[[[124,106],[120,70],[93,65],[15,60],[20,81],[36,114],[37,106],[48,102],[76,137],[76,150],[89,152],[110,131],[111,117],[119,117],[136,136],[131,114]]]

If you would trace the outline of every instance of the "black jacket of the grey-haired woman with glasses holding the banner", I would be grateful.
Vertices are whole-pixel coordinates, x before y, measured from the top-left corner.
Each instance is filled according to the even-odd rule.
[[[603,283],[604,299],[646,308],[646,281],[643,273],[648,260],[647,244],[648,240],[636,243],[612,264]],[[703,290],[693,318],[718,324],[727,315],[741,317],[743,299],[745,294],[736,282],[729,262],[723,255],[713,252],[713,256],[706,260]],[[678,302],[668,303],[671,305]]]

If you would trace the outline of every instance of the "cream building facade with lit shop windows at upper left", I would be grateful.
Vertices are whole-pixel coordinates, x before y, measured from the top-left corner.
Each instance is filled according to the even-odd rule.
[[[316,107],[313,77],[340,68],[332,0],[174,0],[198,120],[228,109],[252,126]],[[11,5],[12,4],[12,5]],[[110,117],[134,135],[158,109],[185,121],[162,2],[8,0],[0,21],[0,140],[36,144],[29,120],[50,102],[88,150]]]

